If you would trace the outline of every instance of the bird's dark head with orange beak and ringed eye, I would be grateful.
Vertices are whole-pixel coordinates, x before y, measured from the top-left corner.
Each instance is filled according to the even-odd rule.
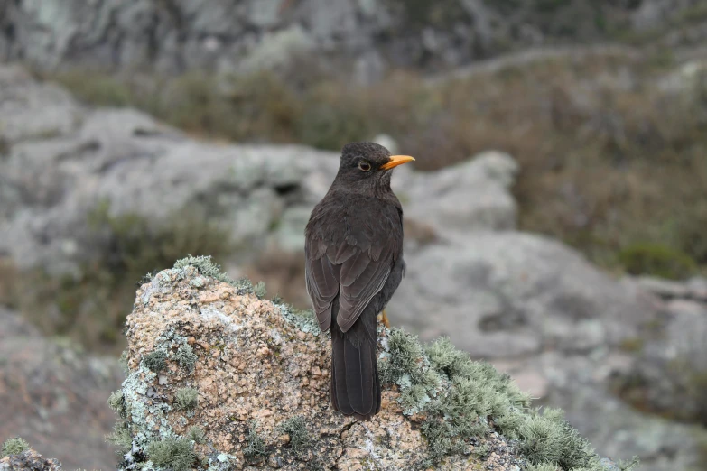
[[[393,168],[414,161],[409,155],[390,155],[377,143],[348,143],[341,150],[336,180],[353,188],[390,188]]]

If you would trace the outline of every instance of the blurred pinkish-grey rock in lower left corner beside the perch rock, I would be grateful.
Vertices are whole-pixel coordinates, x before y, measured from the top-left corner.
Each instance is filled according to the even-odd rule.
[[[67,469],[113,467],[113,448],[104,436],[114,422],[107,396],[123,379],[116,360],[43,338],[1,307],[0,325],[0,437],[19,435]],[[50,460],[47,467],[32,467],[40,461],[32,452],[0,460],[0,469],[57,469],[59,464]]]

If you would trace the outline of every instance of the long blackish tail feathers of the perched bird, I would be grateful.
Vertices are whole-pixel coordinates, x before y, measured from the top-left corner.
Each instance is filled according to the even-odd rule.
[[[344,415],[369,420],[380,411],[376,343],[362,338],[358,346],[331,329],[331,404]]]

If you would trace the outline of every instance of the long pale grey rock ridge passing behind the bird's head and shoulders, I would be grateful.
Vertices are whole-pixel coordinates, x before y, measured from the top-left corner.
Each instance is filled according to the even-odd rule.
[[[0,253],[23,271],[77,275],[104,258],[107,225],[89,224],[97,213],[139,217],[152,231],[190,217],[219,226],[242,249],[228,263],[249,263],[271,245],[299,252],[308,213],[339,165],[337,152],[203,143],[130,108],[90,110],[12,66],[0,66],[0,83],[0,96],[13,97],[0,101],[8,143]],[[56,119],[51,110],[61,110]],[[398,169],[394,181],[405,215],[437,235],[509,229],[516,167],[507,154],[486,152],[443,171]]]

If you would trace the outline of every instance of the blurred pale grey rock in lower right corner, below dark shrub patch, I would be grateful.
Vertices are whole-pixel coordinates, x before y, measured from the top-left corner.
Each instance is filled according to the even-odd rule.
[[[600,453],[617,459],[640,457],[642,471],[703,469],[702,444],[707,430],[647,415],[621,401],[608,380],[631,368],[626,355],[593,356],[548,352],[517,360],[507,371],[537,371],[549,380],[541,403],[562,407],[567,420],[591,437]]]

